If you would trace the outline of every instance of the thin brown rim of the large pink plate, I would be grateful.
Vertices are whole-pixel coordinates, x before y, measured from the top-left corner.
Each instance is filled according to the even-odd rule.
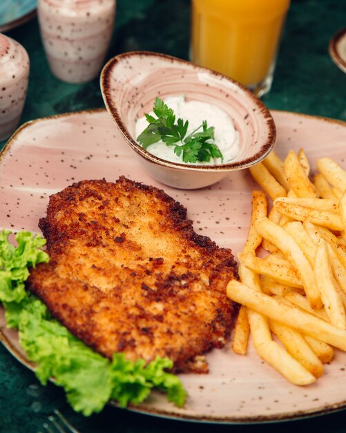
[[[297,113],[294,111],[286,111],[286,110],[274,110],[270,109],[273,113],[286,113],[288,115],[293,115],[298,118],[309,118],[309,119],[315,119],[320,120],[336,125],[340,125],[342,127],[346,128],[346,122],[339,119],[334,118],[327,118],[324,116],[316,116],[316,115],[310,115],[305,113]],[[46,121],[46,120],[53,120],[56,118],[64,118],[68,116],[74,116],[74,115],[89,115],[93,113],[107,113],[105,108],[97,108],[97,109],[84,109],[79,111],[72,111],[68,113],[58,113],[53,114],[50,116],[46,116],[43,118],[37,118],[34,120],[29,120],[28,122],[23,123],[13,134],[10,136],[6,144],[4,145],[3,149],[0,150],[0,165],[3,160],[3,156],[10,150],[10,147],[12,144],[15,143],[17,138],[19,137],[20,133],[32,125],[37,124],[38,122]],[[115,123],[115,122],[113,122]],[[0,308],[3,307],[0,304]],[[13,346],[12,342],[9,340],[9,338],[4,333],[3,326],[0,326],[0,342],[3,344],[3,346],[8,350],[8,352],[17,359],[22,365],[30,369],[31,371],[35,371],[35,364],[30,362],[26,356],[23,355],[20,351],[17,350],[16,347]],[[52,380],[54,382],[54,380]],[[109,406],[113,407],[119,407],[117,403],[115,403],[114,400],[110,400],[107,403]],[[210,424],[227,424],[227,425],[247,425],[247,424],[265,424],[265,423],[277,423],[277,422],[286,422],[286,421],[298,421],[299,419],[303,418],[311,418],[315,416],[322,416],[326,414],[331,414],[333,412],[339,412],[346,408],[346,399],[342,400],[338,403],[333,403],[330,405],[323,405],[321,407],[315,408],[315,409],[305,409],[304,411],[292,411],[292,412],[286,412],[285,414],[277,413],[273,415],[262,415],[262,416],[239,416],[239,417],[231,417],[227,418],[226,416],[198,416],[198,415],[191,415],[191,414],[177,414],[177,412],[170,412],[167,409],[155,409],[154,407],[151,407],[149,405],[146,405],[146,403],[141,403],[140,405],[133,405],[130,404],[127,407],[127,410],[131,412],[137,412],[140,414],[145,414],[148,416],[157,416],[160,418],[169,418],[169,419],[175,419],[177,421],[189,421],[189,422],[196,422],[196,423],[210,423]]]

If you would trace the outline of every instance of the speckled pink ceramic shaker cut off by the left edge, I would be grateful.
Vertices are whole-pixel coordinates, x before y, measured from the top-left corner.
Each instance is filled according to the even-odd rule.
[[[26,100],[29,70],[25,48],[0,33],[0,141],[17,128]]]

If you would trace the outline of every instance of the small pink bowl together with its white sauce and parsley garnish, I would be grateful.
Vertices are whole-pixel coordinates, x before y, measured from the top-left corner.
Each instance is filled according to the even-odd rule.
[[[253,93],[176,57],[117,55],[102,70],[101,89],[128,145],[164,185],[212,185],[259,163],[276,141],[271,113]]]

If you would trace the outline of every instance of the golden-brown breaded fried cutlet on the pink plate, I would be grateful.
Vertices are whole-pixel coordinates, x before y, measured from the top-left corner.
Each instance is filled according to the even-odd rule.
[[[81,181],[50,196],[39,228],[50,262],[28,288],[74,335],[108,358],[167,356],[175,371],[206,371],[200,355],[231,331],[236,261],[193,231],[180,203],[123,176]]]

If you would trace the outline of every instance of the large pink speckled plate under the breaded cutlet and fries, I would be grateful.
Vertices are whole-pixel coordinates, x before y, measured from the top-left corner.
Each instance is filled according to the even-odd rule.
[[[305,147],[314,168],[316,158],[331,156],[346,168],[346,124],[273,111],[278,130],[276,151]],[[74,181],[102,178],[115,181],[124,174],[135,181],[162,187],[133,156],[104,110],[70,113],[23,125],[0,155],[0,227],[38,232],[48,196]],[[188,208],[195,230],[237,254],[247,234],[251,189],[256,185],[245,171],[202,190],[164,190]],[[17,333],[8,331],[0,310],[0,340],[28,367]],[[301,418],[346,407],[346,353],[335,360],[314,385],[290,385],[249,348],[237,356],[227,346],[208,355],[210,374],[181,376],[189,392],[184,409],[167,403],[159,393],[131,409],[147,414],[193,421],[258,423]],[[114,404],[110,402],[110,404]]]

